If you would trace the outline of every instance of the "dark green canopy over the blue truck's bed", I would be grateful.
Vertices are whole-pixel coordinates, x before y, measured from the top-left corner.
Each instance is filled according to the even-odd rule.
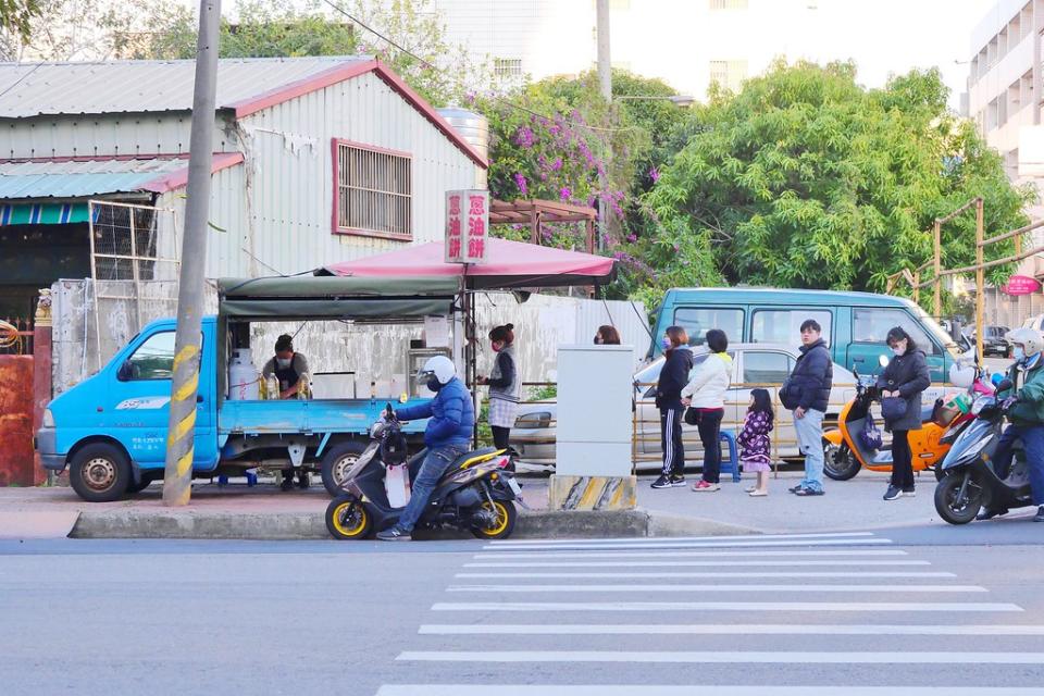
[[[449,314],[453,277],[297,275],[217,281],[217,314],[235,319],[383,319]]]

